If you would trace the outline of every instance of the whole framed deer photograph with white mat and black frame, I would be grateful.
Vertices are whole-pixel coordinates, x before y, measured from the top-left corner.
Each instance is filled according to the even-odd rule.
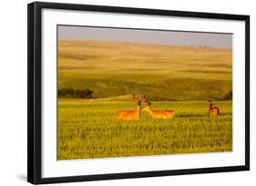
[[[250,170],[250,16],[28,5],[31,183]]]

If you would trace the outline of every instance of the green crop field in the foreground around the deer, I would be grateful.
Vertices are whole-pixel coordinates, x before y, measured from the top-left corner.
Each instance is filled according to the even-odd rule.
[[[175,108],[173,120],[118,121],[128,102],[60,99],[58,159],[232,151],[231,102],[217,102],[218,117],[208,116],[206,102],[156,102],[152,108]]]

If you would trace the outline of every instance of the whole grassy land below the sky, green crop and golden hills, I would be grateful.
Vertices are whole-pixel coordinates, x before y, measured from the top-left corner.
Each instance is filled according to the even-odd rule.
[[[230,49],[59,40],[58,90],[58,160],[232,151]],[[175,119],[118,121],[132,93]]]

